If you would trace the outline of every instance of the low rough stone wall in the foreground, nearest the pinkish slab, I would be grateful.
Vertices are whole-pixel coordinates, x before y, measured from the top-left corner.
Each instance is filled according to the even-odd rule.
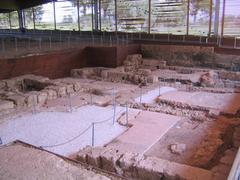
[[[208,170],[137,153],[126,152],[121,154],[108,147],[86,147],[78,153],[77,159],[128,178],[142,180],[210,180],[213,178],[213,174]]]

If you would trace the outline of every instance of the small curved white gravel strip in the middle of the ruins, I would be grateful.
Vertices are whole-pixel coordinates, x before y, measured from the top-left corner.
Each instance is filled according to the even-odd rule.
[[[172,91],[177,91],[177,89],[172,87],[161,87],[160,95]],[[141,103],[155,103],[155,99],[159,96],[159,88],[148,91],[145,94],[142,94]],[[140,96],[135,99],[136,102],[140,102]]]

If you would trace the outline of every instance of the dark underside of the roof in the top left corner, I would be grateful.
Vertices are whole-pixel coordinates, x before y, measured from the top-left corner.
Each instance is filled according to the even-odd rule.
[[[0,13],[26,9],[57,0],[0,0]]]

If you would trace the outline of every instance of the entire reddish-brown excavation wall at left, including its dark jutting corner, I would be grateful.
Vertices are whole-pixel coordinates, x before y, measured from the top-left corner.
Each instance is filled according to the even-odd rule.
[[[86,47],[57,51],[44,55],[0,59],[0,79],[24,74],[35,74],[49,78],[70,76],[72,69],[81,67],[116,67],[128,54],[140,53],[139,45],[115,47]]]

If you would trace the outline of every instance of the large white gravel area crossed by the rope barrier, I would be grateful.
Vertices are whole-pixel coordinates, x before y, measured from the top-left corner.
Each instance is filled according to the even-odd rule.
[[[116,118],[120,117],[124,111],[124,107],[117,107]],[[92,144],[92,127],[78,137],[92,122],[109,119],[106,122],[95,124],[95,146],[104,145],[124,132],[126,127],[119,125],[117,122],[113,125],[112,117],[112,106],[88,105],[74,109],[72,113],[40,112],[0,124],[0,137],[3,144],[18,139],[66,156],[75,153],[86,145]],[[65,142],[68,143],[62,144]],[[47,147],[52,145],[57,146]]]

